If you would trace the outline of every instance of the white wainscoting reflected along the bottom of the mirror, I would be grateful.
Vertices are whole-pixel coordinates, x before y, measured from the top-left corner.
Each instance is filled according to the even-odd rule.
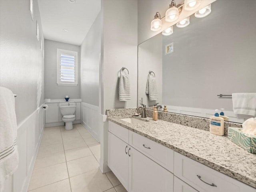
[[[210,118],[214,116],[214,113],[215,113],[214,109],[200,109],[200,108],[179,107],[179,106],[171,106],[171,105],[167,105],[167,110],[168,112],[171,112],[171,113],[180,113],[183,115],[192,115],[192,116],[206,117],[206,118]],[[219,110],[218,113],[220,112],[221,111]],[[223,112],[225,116],[229,117],[228,121],[236,122],[236,123],[244,123],[246,119],[249,119],[252,117],[248,115],[237,116],[236,114],[234,114],[233,111],[224,110]]]

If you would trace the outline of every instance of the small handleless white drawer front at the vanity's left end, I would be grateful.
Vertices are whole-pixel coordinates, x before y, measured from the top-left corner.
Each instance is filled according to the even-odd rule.
[[[129,130],[113,123],[112,121],[108,121],[108,131],[113,135],[116,135],[119,139],[123,140],[125,143],[129,141]]]

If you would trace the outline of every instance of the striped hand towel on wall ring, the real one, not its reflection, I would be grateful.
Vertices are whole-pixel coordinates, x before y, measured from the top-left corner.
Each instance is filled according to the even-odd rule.
[[[119,101],[131,100],[131,85],[129,75],[120,75],[118,84]]]

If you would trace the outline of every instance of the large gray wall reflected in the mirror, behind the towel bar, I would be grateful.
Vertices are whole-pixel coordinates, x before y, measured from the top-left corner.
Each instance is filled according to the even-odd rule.
[[[217,94],[256,92],[255,7],[216,1],[210,15],[190,16],[189,26],[163,36],[163,50],[174,42],[174,53],[163,53],[164,104],[232,111],[232,99]]]

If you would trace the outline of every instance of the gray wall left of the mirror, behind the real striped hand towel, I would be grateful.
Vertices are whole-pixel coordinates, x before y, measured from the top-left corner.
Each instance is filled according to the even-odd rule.
[[[104,111],[137,106],[137,0],[108,0],[103,3]],[[131,100],[119,101],[118,76],[122,67],[130,72]]]

